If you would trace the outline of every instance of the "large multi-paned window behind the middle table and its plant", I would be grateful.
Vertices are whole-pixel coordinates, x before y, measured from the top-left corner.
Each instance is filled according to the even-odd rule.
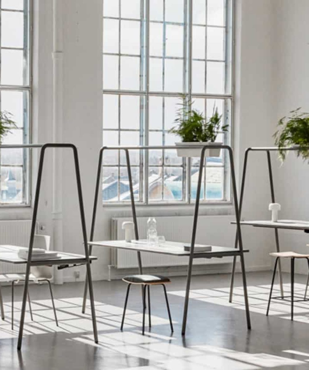
[[[191,40],[191,41],[190,41]],[[229,132],[232,0],[103,0],[103,145],[174,145],[180,94],[206,117],[216,106]],[[200,199],[229,200],[226,154],[206,158]],[[131,151],[138,202],[190,203],[199,158],[174,150]],[[103,157],[103,202],[129,201],[123,151]]]

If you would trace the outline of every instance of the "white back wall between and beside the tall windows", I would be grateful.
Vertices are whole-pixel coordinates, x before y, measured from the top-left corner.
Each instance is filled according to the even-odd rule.
[[[234,146],[238,172],[246,147],[272,144],[271,134],[275,122],[275,15],[273,1],[237,0]],[[38,130],[37,140],[43,142],[52,138],[51,1],[36,0],[34,16],[34,128]],[[63,57],[63,141],[73,142],[79,149],[89,232],[98,151],[102,145],[102,0],[89,0],[86,6],[83,0],[63,2]],[[82,252],[76,189],[72,179],[72,158],[69,154],[63,155],[63,248],[66,251]],[[50,161],[50,157],[48,159]],[[268,214],[267,172],[264,162],[257,156],[254,156],[251,163],[243,216],[260,218]],[[51,181],[51,173],[47,171],[39,219],[46,224],[48,233],[52,230]],[[141,207],[137,212],[141,216],[150,213],[154,216],[192,215],[193,207]],[[231,208],[201,207],[203,214],[231,212]],[[128,207],[102,208],[100,205],[96,238],[109,238],[111,217],[129,214]],[[25,215],[26,213],[24,217]],[[247,268],[267,269],[270,265],[269,233],[251,228],[243,228],[243,232],[244,246],[250,249],[250,253],[246,255]],[[230,238],[233,245],[234,233]],[[106,278],[110,252],[97,249],[95,254],[99,260],[93,263],[93,275],[96,279]],[[72,276],[73,269],[65,271],[65,280],[72,279]]]

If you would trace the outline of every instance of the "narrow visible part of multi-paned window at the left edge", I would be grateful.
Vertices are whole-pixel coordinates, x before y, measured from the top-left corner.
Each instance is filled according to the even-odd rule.
[[[29,143],[29,0],[1,0],[0,110],[12,114],[16,128],[2,144]],[[29,204],[28,149],[1,149],[0,204]]]

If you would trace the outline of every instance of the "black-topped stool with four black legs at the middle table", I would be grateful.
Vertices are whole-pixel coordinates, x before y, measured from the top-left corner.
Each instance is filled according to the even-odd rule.
[[[124,326],[124,319],[125,319],[125,310],[126,310],[126,304],[128,303],[128,297],[129,297],[129,290],[132,284],[134,285],[141,285],[142,286],[142,302],[143,302],[143,328],[142,328],[142,334],[144,335],[145,332],[145,312],[146,312],[146,288],[148,286],[148,318],[149,318],[149,328],[151,327],[151,316],[150,316],[150,285],[162,285],[164,289],[164,295],[165,295],[165,301],[167,306],[167,312],[168,312],[168,318],[170,319],[170,326],[171,331],[173,332],[173,324],[172,324],[172,318],[171,318],[171,312],[170,312],[170,306],[168,305],[168,299],[166,294],[166,288],[165,283],[170,283],[171,280],[168,279],[168,277],[160,276],[160,275],[130,275],[125,276],[122,279],[124,282],[128,283],[128,288],[126,290],[126,297],[125,297],[125,305],[124,305],[124,313],[122,314],[122,322],[120,330],[122,331],[122,328]]]

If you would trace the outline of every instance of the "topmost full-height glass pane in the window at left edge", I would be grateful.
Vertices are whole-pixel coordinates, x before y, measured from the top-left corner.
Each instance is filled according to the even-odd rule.
[[[1,46],[23,48],[24,14],[1,11]]]

